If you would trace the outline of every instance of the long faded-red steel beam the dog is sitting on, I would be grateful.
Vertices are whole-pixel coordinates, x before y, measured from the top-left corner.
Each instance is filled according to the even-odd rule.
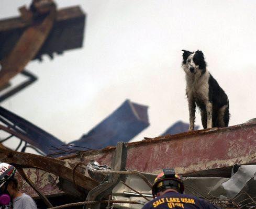
[[[126,168],[159,173],[163,168],[173,167],[180,174],[226,176],[225,168],[233,164],[256,163],[255,147],[256,123],[160,136],[128,143]],[[84,152],[83,162],[96,160],[101,165],[110,165],[114,149]],[[66,158],[74,161],[76,156]]]

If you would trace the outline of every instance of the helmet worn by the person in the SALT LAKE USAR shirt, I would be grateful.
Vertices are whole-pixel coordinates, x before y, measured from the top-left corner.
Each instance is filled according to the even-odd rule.
[[[182,194],[184,192],[183,181],[172,168],[163,169],[163,172],[155,178],[152,186],[152,194],[157,195],[159,191],[165,189],[175,189]]]

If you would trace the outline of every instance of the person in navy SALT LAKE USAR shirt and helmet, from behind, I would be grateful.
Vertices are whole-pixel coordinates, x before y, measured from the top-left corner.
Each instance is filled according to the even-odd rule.
[[[212,203],[199,199],[196,196],[183,194],[184,184],[174,169],[163,169],[163,172],[154,180],[152,194],[154,199],[142,207],[142,209],[216,209]]]

